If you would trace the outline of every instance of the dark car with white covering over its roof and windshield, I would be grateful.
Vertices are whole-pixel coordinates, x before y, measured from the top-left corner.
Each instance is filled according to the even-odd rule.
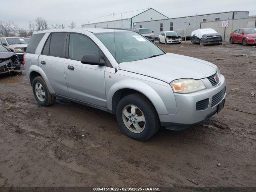
[[[198,29],[191,33],[191,44],[198,43],[201,46],[206,44],[221,45],[222,36],[214,29]]]

